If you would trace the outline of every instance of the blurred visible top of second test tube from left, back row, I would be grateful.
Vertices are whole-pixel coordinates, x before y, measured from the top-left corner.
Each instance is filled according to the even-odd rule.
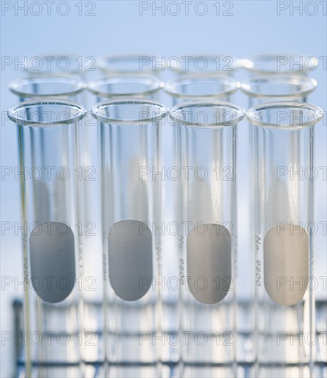
[[[160,75],[162,58],[149,54],[112,54],[97,59],[97,67],[109,76],[124,74]]]

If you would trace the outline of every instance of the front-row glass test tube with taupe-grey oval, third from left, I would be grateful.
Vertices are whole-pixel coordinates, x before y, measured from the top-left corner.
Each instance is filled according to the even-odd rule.
[[[236,124],[229,102],[173,107],[180,130],[180,376],[235,376]]]

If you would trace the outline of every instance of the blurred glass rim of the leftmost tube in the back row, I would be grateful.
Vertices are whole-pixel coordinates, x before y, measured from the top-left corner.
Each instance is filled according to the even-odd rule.
[[[81,74],[85,74],[85,72],[87,72],[87,68],[86,68],[86,59],[87,58],[91,58],[91,57],[86,57],[86,56],[83,56],[81,54],[74,54],[74,53],[69,53],[69,54],[60,54],[60,53],[56,53],[56,54],[40,54],[39,56],[36,55],[36,56],[27,56],[27,61],[30,61],[32,58],[56,58],[56,59],[59,59],[59,58],[68,58],[70,60],[70,62],[76,62],[77,59],[81,58],[81,65],[82,65],[82,69],[70,69],[68,68],[67,70],[59,70],[59,71],[50,71],[50,70],[38,70],[38,71],[34,71],[33,69],[29,69],[27,64],[24,64],[23,65],[23,68],[21,68],[21,71],[24,71],[24,72],[27,72],[28,74],[30,74],[31,76],[57,76],[57,75],[81,75]],[[92,63],[91,63],[92,64]],[[76,64],[78,65],[78,63]],[[89,69],[89,71],[91,71],[92,69]],[[94,69],[93,69],[94,70]]]

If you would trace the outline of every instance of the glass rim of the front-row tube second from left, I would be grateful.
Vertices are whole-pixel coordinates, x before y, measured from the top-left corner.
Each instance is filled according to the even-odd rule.
[[[107,106],[112,105],[124,105],[124,104],[144,104],[144,105],[151,105],[153,107],[157,107],[162,109],[162,112],[158,115],[155,115],[154,117],[149,118],[142,118],[140,119],[134,119],[134,120],[123,120],[118,118],[110,118],[107,116],[99,115],[98,111],[100,109],[103,109]],[[99,122],[102,122],[104,124],[130,124],[130,125],[138,125],[140,126],[140,122],[143,123],[150,123],[154,120],[161,120],[165,118],[167,113],[169,112],[168,107],[165,104],[162,104],[161,102],[154,101],[154,100],[147,100],[146,98],[137,98],[137,97],[125,97],[125,98],[115,98],[113,100],[105,100],[98,102],[95,104],[91,109],[92,116],[98,120]]]

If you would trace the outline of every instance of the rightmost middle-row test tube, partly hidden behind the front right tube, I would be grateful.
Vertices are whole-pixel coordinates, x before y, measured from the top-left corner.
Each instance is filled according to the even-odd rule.
[[[257,76],[251,78],[242,83],[241,89],[247,96],[249,101],[249,109],[257,104],[263,104],[265,102],[272,101],[297,101],[306,102],[306,99],[310,93],[315,91],[317,82],[315,79],[308,78],[307,76],[296,76],[290,74],[270,74],[266,76]],[[249,124],[249,164],[246,164],[244,169],[246,170],[247,177],[251,177],[249,183],[251,183],[250,196],[251,203],[249,204],[249,211],[251,214],[255,212],[255,171],[251,169],[251,162],[255,159],[255,132],[257,127]],[[249,224],[249,249],[255,251],[255,241],[251,237],[253,234],[253,217],[250,219]],[[254,252],[253,252],[254,253]],[[253,274],[255,272],[253,271]],[[254,283],[254,282],[253,282]],[[251,298],[239,303],[239,315],[240,315],[240,360],[243,362],[254,362],[254,333],[255,317],[253,314],[253,300],[254,300],[255,287],[251,287]],[[242,336],[241,336],[242,335]],[[243,338],[244,337],[244,338]]]

